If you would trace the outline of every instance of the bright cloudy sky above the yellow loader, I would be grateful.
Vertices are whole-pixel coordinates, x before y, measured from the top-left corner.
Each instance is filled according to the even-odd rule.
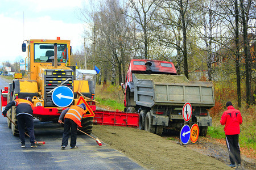
[[[60,37],[71,40],[72,52],[81,50],[86,25],[78,13],[86,5],[88,0],[1,0],[0,65],[26,57],[23,40]]]

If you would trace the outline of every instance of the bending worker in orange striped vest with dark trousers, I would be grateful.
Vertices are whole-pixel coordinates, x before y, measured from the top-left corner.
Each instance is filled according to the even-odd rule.
[[[77,136],[77,126],[81,126],[82,116],[86,113],[85,104],[82,103],[80,105],[72,105],[71,107],[65,109],[61,112],[59,117],[59,123],[62,123],[64,118],[64,131],[63,131],[63,139],[61,143],[61,149],[65,149],[68,146],[68,136],[69,131],[71,129],[71,148],[77,148],[76,146],[76,136]]]

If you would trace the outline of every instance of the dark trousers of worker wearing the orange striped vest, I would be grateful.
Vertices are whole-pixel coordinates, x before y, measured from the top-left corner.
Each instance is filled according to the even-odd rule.
[[[65,118],[64,120],[64,131],[61,146],[68,146],[69,131],[71,129],[71,141],[70,146],[76,146],[76,136],[77,136],[77,124],[70,118]]]

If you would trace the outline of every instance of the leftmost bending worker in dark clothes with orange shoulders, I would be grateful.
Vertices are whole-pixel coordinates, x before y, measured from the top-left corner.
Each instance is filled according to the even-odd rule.
[[[30,147],[35,146],[35,134],[34,134],[34,119],[33,119],[33,103],[31,97],[25,97],[25,99],[16,99],[10,101],[2,112],[6,117],[7,111],[16,106],[16,116],[18,120],[19,138],[21,141],[21,147],[25,147],[25,126],[27,127],[28,135],[30,135]]]

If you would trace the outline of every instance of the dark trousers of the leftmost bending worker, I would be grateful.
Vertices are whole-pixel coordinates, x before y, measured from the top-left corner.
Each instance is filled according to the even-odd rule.
[[[19,114],[17,116],[19,138],[22,144],[25,144],[25,127],[27,127],[28,135],[30,135],[30,143],[35,143],[34,120],[28,114]]]

